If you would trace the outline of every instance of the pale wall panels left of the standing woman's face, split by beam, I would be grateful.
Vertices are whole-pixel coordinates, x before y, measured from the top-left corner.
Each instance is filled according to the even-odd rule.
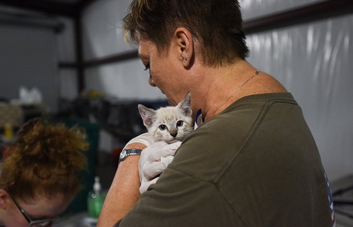
[[[85,59],[107,57],[136,49],[124,41],[122,19],[131,0],[95,1],[83,12]],[[86,70],[86,88],[103,91],[117,98],[165,99],[156,87],[147,83],[148,72],[136,58]]]

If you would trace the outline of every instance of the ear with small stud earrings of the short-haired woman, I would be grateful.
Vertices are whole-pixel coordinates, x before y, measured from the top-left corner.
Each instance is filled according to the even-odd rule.
[[[175,29],[174,37],[179,47],[180,60],[183,62],[184,67],[190,66],[194,52],[191,33],[184,27],[178,27]]]

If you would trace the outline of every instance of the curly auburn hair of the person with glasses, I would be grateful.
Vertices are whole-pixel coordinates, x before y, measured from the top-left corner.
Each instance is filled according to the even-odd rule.
[[[16,198],[30,201],[62,193],[76,195],[81,189],[79,173],[87,169],[85,131],[74,126],[32,119],[18,131],[15,144],[8,147],[0,188]]]

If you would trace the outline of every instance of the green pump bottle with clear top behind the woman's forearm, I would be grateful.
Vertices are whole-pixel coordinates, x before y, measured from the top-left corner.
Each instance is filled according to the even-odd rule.
[[[87,206],[88,216],[91,218],[98,218],[100,210],[102,209],[105,196],[102,194],[102,187],[99,183],[99,177],[94,177],[93,191],[88,193]]]

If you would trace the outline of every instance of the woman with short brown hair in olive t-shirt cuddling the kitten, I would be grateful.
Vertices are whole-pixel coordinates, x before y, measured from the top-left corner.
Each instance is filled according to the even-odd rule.
[[[129,144],[147,148],[141,159],[120,162],[98,227],[334,226],[302,110],[281,83],[246,61],[237,0],[133,0],[124,28],[149,84],[172,105],[190,93],[204,123],[141,195],[138,173],[158,174],[138,168],[154,146]],[[158,164],[161,151],[147,160]]]

